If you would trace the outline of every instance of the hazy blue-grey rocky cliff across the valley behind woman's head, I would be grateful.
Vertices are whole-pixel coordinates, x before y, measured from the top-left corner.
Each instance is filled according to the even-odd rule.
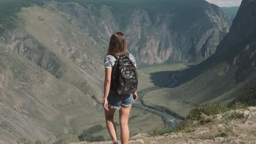
[[[201,61],[211,56],[230,28],[219,7],[201,0],[56,3],[71,22],[108,47],[116,31],[125,32],[128,49],[153,64]]]

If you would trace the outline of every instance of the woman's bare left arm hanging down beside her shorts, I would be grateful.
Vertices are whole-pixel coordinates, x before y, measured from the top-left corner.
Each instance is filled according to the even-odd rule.
[[[105,82],[104,82],[104,108],[108,111],[108,93],[110,89],[112,69],[105,68]]]

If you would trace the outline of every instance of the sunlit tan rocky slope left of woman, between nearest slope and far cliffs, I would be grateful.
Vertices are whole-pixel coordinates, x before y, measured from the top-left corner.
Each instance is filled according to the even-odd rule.
[[[49,12],[47,8],[23,8],[18,14],[22,21],[16,29],[3,33],[0,46],[25,56],[85,95],[102,101],[100,62],[105,50],[62,17],[63,13]]]

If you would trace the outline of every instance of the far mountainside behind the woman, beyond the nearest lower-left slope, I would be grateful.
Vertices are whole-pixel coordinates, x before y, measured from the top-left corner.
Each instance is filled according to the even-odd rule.
[[[215,52],[231,23],[219,7],[204,0],[0,3],[0,46],[97,102],[103,101],[102,59],[112,33],[125,32],[139,65],[198,62]]]

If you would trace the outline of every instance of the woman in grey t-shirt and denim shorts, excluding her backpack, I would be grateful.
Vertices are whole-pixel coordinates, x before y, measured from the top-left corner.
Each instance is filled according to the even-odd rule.
[[[110,89],[111,72],[116,59],[110,54],[125,54],[127,45],[125,35],[121,32],[114,33],[109,42],[107,56],[105,57],[105,85],[104,85],[104,109],[108,132],[112,138],[113,144],[118,144],[116,137],[116,127],[114,123],[115,111],[119,111],[119,123],[121,128],[121,144],[128,144],[129,128],[128,118],[131,110],[131,105],[137,100],[137,92],[128,95],[118,95]],[[129,58],[136,67],[134,57],[129,54]]]

